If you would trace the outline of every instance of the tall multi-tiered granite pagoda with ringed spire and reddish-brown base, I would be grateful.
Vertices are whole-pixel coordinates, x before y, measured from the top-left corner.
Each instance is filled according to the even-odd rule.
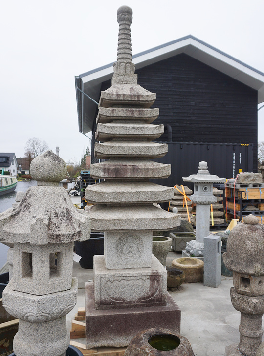
[[[174,189],[151,183],[167,178],[171,166],[152,161],[167,145],[151,142],[163,125],[150,108],[155,94],[137,84],[132,63],[132,10],[117,11],[117,62],[112,86],[101,93],[94,153],[106,161],[91,164],[86,189],[92,231],[105,232],[105,255],[94,257],[94,280],[86,284],[87,348],[126,346],[142,328],[180,328],[180,311],[167,293],[167,272],[152,255],[153,230],[170,230],[180,217],[154,203],[174,197]]]

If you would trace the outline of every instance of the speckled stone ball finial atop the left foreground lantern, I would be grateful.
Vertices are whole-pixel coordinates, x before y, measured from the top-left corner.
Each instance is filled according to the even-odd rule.
[[[37,156],[30,164],[31,177],[40,182],[60,182],[66,173],[65,161],[51,150]]]

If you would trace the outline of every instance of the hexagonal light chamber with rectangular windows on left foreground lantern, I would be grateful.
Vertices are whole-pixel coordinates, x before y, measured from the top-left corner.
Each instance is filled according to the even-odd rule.
[[[57,265],[55,265],[55,254]],[[14,243],[14,290],[44,295],[70,289],[72,257],[73,242],[47,245]]]

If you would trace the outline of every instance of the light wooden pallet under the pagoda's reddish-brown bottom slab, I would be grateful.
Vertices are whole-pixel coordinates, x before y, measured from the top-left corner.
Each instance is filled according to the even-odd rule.
[[[85,338],[85,308],[78,308],[74,320],[71,320],[70,345],[79,349],[83,355],[98,356],[124,356],[126,347],[95,347],[87,349],[85,344],[72,339]]]

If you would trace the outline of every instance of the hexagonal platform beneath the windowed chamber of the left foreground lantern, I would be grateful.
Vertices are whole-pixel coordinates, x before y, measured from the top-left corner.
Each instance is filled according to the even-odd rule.
[[[72,278],[71,289],[36,296],[15,291],[10,280],[3,291],[3,307],[9,314],[30,323],[42,323],[69,313],[77,302],[78,279]]]

